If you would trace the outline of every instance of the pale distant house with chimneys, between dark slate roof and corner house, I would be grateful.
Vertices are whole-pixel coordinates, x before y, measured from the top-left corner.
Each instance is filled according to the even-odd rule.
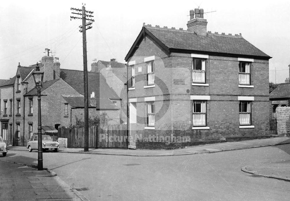
[[[121,123],[127,122],[127,68],[123,63],[117,62],[116,59],[110,61],[93,60],[91,64],[91,72],[101,73],[106,79],[107,84],[117,93],[120,99],[111,100],[115,102],[120,110]]]

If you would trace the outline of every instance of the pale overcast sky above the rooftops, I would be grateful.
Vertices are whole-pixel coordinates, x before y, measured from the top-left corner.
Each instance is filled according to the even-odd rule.
[[[138,2],[138,3],[137,3]],[[166,2],[166,3],[164,3]],[[187,29],[189,10],[204,12],[207,30],[239,34],[273,57],[270,82],[289,77],[289,1],[2,1],[0,8],[0,79],[15,76],[18,62],[30,66],[41,60],[45,48],[59,57],[61,68],[83,70],[81,20],[70,21],[70,10],[86,3],[94,12],[87,30],[88,70],[93,59],[124,63],[142,24]],[[276,74],[275,74],[276,69]],[[226,69],[225,69],[226,70]]]

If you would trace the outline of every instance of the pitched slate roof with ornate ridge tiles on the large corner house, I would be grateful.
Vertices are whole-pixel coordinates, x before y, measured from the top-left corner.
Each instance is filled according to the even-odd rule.
[[[240,55],[266,59],[271,58],[245,40],[241,35],[229,36],[211,34],[208,32],[206,36],[202,36],[187,30],[156,28],[144,25],[139,36],[126,55],[126,61],[131,54],[133,54],[135,47],[143,39],[143,33],[153,38],[168,52],[200,52],[213,55]]]

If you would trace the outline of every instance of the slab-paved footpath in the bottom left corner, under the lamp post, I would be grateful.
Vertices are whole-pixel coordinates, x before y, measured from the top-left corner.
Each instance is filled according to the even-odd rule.
[[[4,157],[3,157],[4,158]],[[88,200],[53,171],[0,160],[0,200]]]

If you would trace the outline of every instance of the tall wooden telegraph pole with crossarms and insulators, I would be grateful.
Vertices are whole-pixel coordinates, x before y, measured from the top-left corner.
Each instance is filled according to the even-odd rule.
[[[86,6],[86,4],[85,4]],[[77,12],[72,12],[72,14],[81,15],[81,17],[70,16],[71,19],[82,19],[82,26],[79,26],[79,32],[83,33],[83,62],[84,62],[84,151],[89,151],[89,115],[88,115],[88,66],[87,66],[87,42],[86,42],[86,30],[92,28],[92,22],[94,17],[90,14],[94,12],[86,10],[84,6],[81,9],[70,8],[70,10],[75,10]],[[81,12],[81,13],[80,13]],[[86,20],[90,21],[86,23]]]

